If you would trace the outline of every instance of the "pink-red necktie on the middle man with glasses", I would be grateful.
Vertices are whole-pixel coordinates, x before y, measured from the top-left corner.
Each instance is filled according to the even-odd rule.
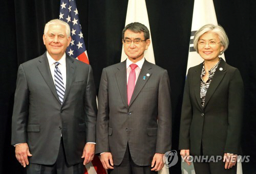
[[[134,91],[134,87],[135,87],[135,82],[136,82],[136,74],[135,74],[135,68],[138,65],[136,64],[131,64],[131,72],[129,74],[129,79],[128,79],[128,83],[127,83],[127,100],[128,100],[128,105],[130,104],[132,95],[133,95],[133,91]]]

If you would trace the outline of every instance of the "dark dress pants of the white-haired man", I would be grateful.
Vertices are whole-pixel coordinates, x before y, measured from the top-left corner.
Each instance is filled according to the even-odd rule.
[[[43,165],[29,163],[29,165],[26,167],[27,174],[83,174],[84,165],[82,163],[75,165],[69,165],[67,163],[65,150],[63,147],[64,146],[61,137],[59,153],[55,164]]]

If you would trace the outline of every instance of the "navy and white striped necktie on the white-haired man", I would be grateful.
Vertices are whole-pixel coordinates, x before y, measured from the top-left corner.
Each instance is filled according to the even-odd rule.
[[[61,72],[58,68],[59,64],[60,64],[59,62],[55,62],[54,81],[55,81],[55,88],[56,88],[60,103],[62,105],[63,98],[65,95],[65,87],[64,87],[62,76],[61,76]]]

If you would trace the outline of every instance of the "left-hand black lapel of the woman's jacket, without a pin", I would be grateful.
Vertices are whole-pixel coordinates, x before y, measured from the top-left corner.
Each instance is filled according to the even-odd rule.
[[[202,105],[201,105],[201,98],[200,98],[200,90],[201,90],[200,77],[201,77],[202,68],[203,68],[203,63],[197,66],[194,72],[195,74],[193,76],[193,83],[194,83],[193,88],[195,89],[195,96],[196,96],[197,103],[201,109],[202,109]]]

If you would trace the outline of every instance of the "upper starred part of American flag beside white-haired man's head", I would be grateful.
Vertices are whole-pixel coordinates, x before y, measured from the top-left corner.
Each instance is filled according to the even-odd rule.
[[[67,22],[70,26],[72,39],[66,53],[71,57],[89,64],[75,0],[60,1],[59,19]]]

